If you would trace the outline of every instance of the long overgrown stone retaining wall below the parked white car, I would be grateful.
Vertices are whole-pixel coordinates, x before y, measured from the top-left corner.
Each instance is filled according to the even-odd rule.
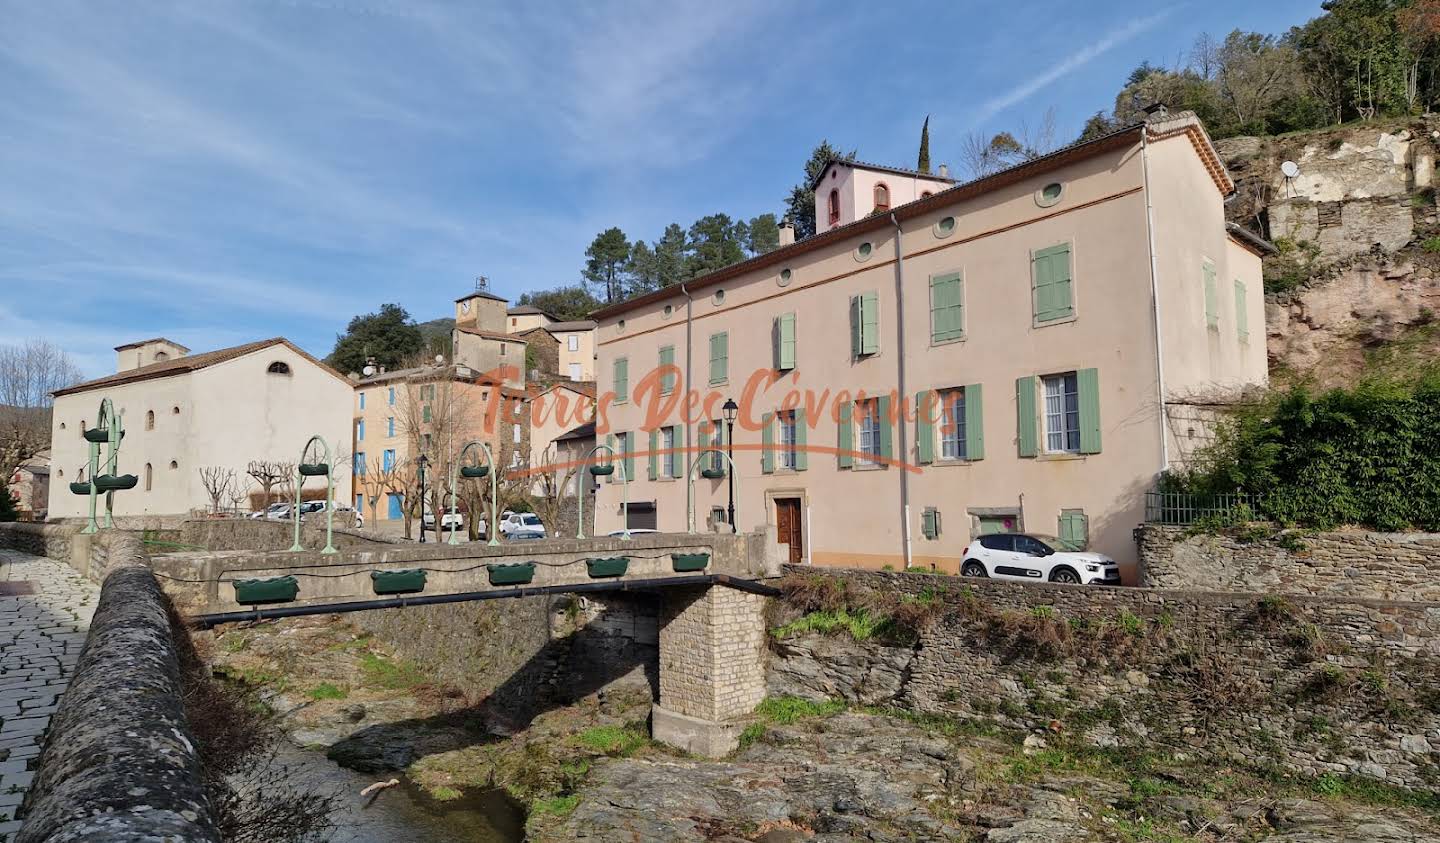
[[[936,620],[904,643],[773,641],[772,695],[1413,788],[1440,774],[1440,604],[792,571],[933,601]]]

